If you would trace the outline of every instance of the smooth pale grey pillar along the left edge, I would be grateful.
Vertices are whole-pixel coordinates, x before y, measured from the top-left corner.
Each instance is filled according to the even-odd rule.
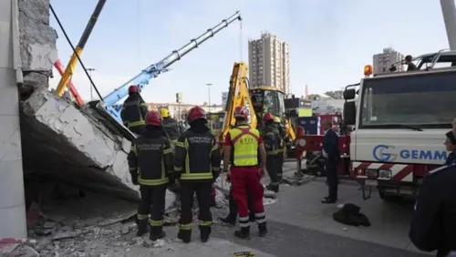
[[[22,170],[16,0],[0,0],[0,238],[26,238],[26,205]],[[12,11],[14,10],[14,11]],[[16,55],[15,55],[16,52]],[[16,60],[15,60],[16,58]]]

